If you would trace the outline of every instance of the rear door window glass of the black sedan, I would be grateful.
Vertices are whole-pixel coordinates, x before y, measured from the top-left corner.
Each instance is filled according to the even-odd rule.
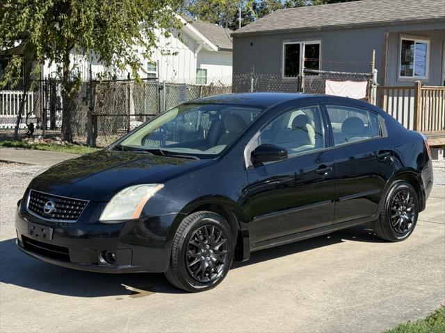
[[[343,105],[326,105],[326,109],[335,146],[382,135],[378,114]]]

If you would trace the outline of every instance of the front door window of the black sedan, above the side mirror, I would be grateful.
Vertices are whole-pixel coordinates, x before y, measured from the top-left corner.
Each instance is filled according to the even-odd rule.
[[[289,156],[325,148],[320,108],[311,105],[286,112],[261,131],[260,144],[280,146]]]

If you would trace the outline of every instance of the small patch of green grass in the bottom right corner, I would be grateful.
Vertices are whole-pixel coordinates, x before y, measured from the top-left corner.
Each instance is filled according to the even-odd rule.
[[[445,332],[445,305],[436,310],[434,314],[419,319],[418,321],[408,321],[398,325],[385,333],[443,333]]]

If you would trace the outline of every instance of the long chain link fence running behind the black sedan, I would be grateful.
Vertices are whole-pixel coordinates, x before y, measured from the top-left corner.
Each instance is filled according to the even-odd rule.
[[[283,78],[275,74],[238,74],[207,78],[207,83],[193,80],[165,82],[149,78],[102,80],[81,84],[70,96],[71,129],[75,142],[89,146],[107,146],[129,130],[180,103],[231,92],[305,92],[325,94],[326,80],[366,81],[366,101],[371,96],[372,74],[305,71],[305,75]],[[21,137],[60,137],[63,103],[57,80],[38,80],[26,94],[19,125]],[[23,92],[0,91],[0,139],[13,137]]]

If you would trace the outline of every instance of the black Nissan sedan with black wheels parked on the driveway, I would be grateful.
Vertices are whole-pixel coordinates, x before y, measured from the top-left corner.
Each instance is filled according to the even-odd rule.
[[[353,225],[407,239],[431,188],[426,139],[373,105],[211,96],[36,176],[18,203],[17,246],[85,271],[165,272],[203,291],[252,251]]]

